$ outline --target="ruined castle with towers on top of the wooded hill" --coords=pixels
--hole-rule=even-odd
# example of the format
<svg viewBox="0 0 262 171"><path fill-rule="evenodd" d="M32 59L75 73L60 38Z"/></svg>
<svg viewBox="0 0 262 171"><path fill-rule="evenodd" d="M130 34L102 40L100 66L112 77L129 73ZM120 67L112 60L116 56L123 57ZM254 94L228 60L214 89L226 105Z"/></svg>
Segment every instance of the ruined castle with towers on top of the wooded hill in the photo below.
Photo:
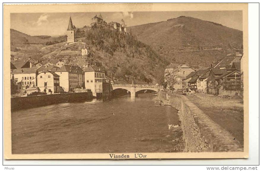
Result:
<svg viewBox="0 0 262 171"><path fill-rule="evenodd" d="M119 32L122 32L124 34L127 33L127 25L125 25L124 20L121 20L121 23L118 22L110 22L107 23L105 20L103 20L103 17L101 14L99 16L95 15L95 17L92 18L91 27L108 27L114 30L118 30Z"/></svg>

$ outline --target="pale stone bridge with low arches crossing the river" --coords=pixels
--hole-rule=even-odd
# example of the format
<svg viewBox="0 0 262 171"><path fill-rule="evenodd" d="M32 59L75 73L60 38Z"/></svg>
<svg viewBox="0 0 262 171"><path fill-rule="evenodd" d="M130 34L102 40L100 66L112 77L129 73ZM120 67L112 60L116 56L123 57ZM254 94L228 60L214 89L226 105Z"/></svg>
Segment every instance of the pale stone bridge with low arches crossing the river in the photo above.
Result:
<svg viewBox="0 0 262 171"><path fill-rule="evenodd" d="M140 90L153 90L158 92L160 87L158 85L143 85L143 84L111 84L111 91L115 89L126 89L130 92L131 97L137 96Z"/></svg>

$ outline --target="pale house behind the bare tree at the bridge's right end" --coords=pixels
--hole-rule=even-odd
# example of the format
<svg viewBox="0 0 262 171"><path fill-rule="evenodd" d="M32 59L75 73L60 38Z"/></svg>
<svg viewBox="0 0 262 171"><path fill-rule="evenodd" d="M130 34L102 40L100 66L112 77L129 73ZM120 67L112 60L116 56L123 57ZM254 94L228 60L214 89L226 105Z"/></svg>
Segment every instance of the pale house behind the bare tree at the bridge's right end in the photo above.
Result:
<svg viewBox="0 0 262 171"><path fill-rule="evenodd" d="M174 89L182 89L183 87L183 79L186 78L186 76L194 72L195 70L186 66L186 65L181 65L181 66L175 66L174 64L170 64L169 66L166 67L165 72L164 72L164 77L172 76L172 75L177 75L176 76L176 83L174 84L173 88ZM174 73L175 72L175 73ZM165 82L167 79L165 79ZM169 87L167 87L169 88Z"/></svg>

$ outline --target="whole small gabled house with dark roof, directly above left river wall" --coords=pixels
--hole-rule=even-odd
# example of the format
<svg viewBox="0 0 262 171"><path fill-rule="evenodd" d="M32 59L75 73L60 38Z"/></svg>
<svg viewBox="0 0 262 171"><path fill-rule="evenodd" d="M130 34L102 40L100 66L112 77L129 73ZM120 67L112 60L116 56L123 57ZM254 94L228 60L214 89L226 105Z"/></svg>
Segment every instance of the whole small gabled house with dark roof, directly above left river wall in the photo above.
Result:
<svg viewBox="0 0 262 171"><path fill-rule="evenodd" d="M41 92L58 93L59 92L59 75L52 71L41 71L37 76L37 87Z"/></svg>

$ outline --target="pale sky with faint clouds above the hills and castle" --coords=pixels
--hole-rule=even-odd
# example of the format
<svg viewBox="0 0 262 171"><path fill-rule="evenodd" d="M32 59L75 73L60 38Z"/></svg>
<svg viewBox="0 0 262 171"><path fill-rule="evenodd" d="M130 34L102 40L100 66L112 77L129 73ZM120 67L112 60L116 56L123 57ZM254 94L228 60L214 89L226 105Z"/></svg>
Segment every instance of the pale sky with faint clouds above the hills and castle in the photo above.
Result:
<svg viewBox="0 0 262 171"><path fill-rule="evenodd" d="M96 14L100 13L12 13L11 28L28 35L65 35L70 16L76 27L83 27L90 26ZM243 30L242 11L101 12L101 15L107 23L120 23L124 19L127 27L187 16Z"/></svg>

